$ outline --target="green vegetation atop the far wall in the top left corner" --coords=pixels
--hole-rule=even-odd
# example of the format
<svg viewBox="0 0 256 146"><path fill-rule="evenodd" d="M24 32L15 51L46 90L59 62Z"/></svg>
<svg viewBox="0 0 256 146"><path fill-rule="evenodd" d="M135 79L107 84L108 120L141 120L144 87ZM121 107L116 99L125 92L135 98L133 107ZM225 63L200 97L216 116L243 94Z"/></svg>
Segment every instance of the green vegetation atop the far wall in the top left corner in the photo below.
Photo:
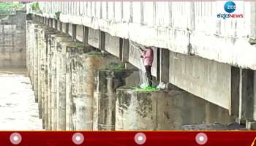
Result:
<svg viewBox="0 0 256 146"><path fill-rule="evenodd" d="M17 2L0 2L0 13L10 13L23 9L23 4Z"/></svg>

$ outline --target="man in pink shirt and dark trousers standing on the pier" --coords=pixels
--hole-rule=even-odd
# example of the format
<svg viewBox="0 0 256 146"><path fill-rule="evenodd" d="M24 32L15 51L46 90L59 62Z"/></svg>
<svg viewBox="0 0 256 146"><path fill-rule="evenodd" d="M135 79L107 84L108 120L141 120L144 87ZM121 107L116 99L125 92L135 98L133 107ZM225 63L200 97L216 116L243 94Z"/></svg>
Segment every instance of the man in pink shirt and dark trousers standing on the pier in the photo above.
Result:
<svg viewBox="0 0 256 146"><path fill-rule="evenodd" d="M149 87L152 87L152 74L151 74L151 67L154 60L154 51L151 47L146 47L146 50L143 50L141 47L139 47L142 51L142 55L140 55L140 58L143 58L143 64L146 69L146 74L148 77L148 85Z"/></svg>

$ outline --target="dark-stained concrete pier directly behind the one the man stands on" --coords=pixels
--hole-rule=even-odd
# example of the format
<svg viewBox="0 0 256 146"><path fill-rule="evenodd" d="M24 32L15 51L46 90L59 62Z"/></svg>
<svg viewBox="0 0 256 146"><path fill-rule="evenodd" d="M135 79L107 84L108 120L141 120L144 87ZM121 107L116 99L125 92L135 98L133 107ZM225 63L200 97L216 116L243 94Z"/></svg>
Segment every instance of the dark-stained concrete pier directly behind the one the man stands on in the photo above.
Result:
<svg viewBox="0 0 256 146"><path fill-rule="evenodd" d="M99 69L94 77L94 130L115 130L116 90L139 83L136 70Z"/></svg>

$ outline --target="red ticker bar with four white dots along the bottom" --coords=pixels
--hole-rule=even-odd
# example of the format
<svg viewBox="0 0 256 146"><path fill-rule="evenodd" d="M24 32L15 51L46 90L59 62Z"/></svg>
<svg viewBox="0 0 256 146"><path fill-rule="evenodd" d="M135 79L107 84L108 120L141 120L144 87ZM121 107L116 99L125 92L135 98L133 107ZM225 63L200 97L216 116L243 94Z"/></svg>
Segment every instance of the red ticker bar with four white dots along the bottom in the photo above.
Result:
<svg viewBox="0 0 256 146"><path fill-rule="evenodd" d="M256 146L256 131L1 131L1 145ZM255 144L254 144L255 141Z"/></svg>

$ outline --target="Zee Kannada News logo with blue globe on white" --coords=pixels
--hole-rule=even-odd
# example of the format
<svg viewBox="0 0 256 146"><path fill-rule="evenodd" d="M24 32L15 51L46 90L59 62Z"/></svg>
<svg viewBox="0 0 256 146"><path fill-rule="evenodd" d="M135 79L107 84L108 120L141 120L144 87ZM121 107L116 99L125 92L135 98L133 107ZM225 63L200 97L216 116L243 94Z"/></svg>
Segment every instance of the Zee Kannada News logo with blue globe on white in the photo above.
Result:
<svg viewBox="0 0 256 146"><path fill-rule="evenodd" d="M217 1L217 18L244 18L244 1Z"/></svg>

